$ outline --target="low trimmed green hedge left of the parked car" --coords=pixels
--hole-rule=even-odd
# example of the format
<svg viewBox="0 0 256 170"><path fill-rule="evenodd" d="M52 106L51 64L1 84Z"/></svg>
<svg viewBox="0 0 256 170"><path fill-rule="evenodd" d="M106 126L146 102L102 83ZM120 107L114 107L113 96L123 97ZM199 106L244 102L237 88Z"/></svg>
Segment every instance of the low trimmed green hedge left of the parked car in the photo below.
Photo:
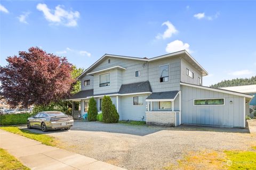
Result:
<svg viewBox="0 0 256 170"><path fill-rule="evenodd" d="M0 125L26 124L30 113L0 115Z"/></svg>

